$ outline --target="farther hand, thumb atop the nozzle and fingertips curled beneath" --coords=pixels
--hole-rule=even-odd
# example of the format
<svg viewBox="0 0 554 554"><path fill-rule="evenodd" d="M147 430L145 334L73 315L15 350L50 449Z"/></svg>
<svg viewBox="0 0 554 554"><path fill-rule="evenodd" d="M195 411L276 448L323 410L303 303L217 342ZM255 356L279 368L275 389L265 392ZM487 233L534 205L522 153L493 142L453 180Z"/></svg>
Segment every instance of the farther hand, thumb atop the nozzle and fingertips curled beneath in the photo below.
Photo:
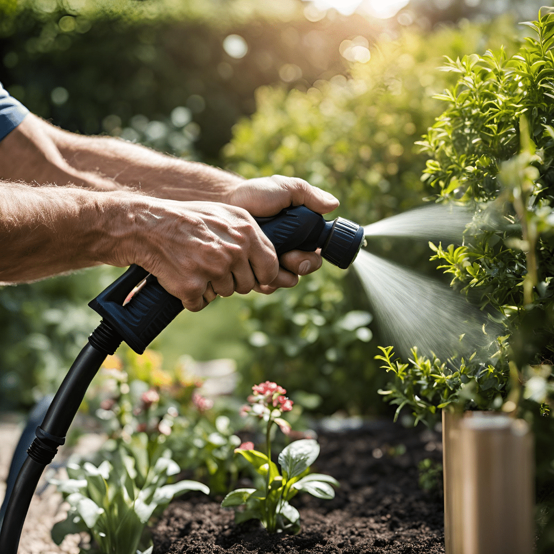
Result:
<svg viewBox="0 0 554 554"><path fill-rule="evenodd" d="M304 179L273 175L248 179L234 185L227 198L228 204L240 206L255 217L269 217L278 214L290 205L304 205L318 214L327 214L338 207L338 200ZM319 252L293 250L281 256L281 267L274 282L257 286L255 290L270 294L280 287L293 287L298 275L307 275L321 267Z"/></svg>

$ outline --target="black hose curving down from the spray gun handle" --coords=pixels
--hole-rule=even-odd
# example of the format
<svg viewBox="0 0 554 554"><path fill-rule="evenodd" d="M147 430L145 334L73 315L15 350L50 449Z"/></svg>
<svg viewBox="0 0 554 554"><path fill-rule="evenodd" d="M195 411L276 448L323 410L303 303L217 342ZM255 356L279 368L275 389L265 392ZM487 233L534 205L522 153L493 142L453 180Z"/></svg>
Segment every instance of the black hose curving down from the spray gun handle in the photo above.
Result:
<svg viewBox="0 0 554 554"><path fill-rule="evenodd" d="M9 497L6 515L0 530L0 552L17 554L23 522L40 476L53 460L58 446L65 442L71 421L75 417L90 382L108 354L114 354L121 337L109 324L102 321L89 337L89 342L65 375L36 437L27 450L24 461Z"/></svg>

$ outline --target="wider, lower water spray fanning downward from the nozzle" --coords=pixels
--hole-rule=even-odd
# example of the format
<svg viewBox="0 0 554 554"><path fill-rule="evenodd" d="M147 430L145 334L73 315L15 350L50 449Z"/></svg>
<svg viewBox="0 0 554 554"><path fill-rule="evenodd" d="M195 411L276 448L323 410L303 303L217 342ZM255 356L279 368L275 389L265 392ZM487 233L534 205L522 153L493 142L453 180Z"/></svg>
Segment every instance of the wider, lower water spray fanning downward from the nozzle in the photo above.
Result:
<svg viewBox="0 0 554 554"><path fill-rule="evenodd" d="M478 350L494 352L501 326L450 287L365 250L353 266L379 330L402 357L414 346L442 360Z"/></svg>

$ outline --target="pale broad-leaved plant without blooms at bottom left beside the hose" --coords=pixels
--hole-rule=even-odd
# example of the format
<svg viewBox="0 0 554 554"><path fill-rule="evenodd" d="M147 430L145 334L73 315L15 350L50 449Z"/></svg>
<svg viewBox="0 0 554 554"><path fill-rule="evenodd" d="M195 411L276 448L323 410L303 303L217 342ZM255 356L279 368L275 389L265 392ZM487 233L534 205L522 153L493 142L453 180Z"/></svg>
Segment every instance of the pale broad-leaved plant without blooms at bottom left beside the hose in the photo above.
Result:
<svg viewBox="0 0 554 554"><path fill-rule="evenodd" d="M181 470L168 449L148 452L145 433L106 453L98 467L90 462L67 466L69 479L53 480L70 508L64 521L52 528L60 544L68 533L88 532L100 554L136 554L147 541L144 528L173 496L196 490L209 494L197 481L171 482ZM151 550L150 550L151 551ZM150 552L146 551L146 552Z"/></svg>

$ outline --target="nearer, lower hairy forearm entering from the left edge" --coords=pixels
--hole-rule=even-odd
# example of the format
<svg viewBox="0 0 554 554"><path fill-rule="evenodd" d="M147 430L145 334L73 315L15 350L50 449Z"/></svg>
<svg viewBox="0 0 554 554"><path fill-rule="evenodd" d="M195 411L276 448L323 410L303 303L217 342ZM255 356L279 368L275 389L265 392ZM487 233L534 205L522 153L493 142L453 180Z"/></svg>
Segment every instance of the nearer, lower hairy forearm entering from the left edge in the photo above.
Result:
<svg viewBox="0 0 554 554"><path fill-rule="evenodd" d="M0 282L119 265L119 245L132 225L118 222L135 196L0 181Z"/></svg>

